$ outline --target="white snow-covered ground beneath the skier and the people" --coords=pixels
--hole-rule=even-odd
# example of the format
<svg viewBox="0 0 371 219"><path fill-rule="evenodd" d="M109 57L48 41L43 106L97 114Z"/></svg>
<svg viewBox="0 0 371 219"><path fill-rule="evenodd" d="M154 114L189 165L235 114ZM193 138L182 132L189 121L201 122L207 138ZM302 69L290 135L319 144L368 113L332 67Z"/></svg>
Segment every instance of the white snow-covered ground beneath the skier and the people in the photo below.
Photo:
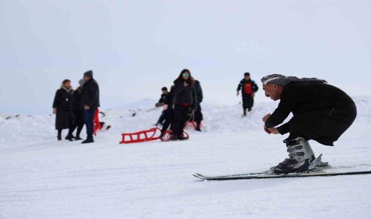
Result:
<svg viewBox="0 0 371 219"><path fill-rule="evenodd" d="M333 166L370 170L371 97L354 100L357 119L335 146L311 145ZM241 106L204 104L204 131L188 129L188 141L129 145L118 144L121 133L152 128L161 109L130 105L134 117L125 107L102 110L112 128L87 145L58 142L54 116L2 114L0 219L371 218L371 175L220 182L192 176L264 171L287 158L285 136L262 129L261 118L276 105L256 104L242 119Z"/></svg>

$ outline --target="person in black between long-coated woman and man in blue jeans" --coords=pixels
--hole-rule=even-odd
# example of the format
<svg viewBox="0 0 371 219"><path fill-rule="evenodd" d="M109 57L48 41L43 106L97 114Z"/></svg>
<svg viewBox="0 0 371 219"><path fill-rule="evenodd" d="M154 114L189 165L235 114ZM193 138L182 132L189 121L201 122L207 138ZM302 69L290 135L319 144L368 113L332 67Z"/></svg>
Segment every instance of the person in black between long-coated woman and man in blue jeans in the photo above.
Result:
<svg viewBox="0 0 371 219"><path fill-rule="evenodd" d="M82 138L80 137L80 133L84 126L84 120L83 120L84 110L82 109L82 106L81 106L81 92L82 92L84 83L85 81L81 79L79 81L80 87L78 87L75 91L72 92L72 97L73 97L72 112L75 116L75 123L68 132L68 135L69 135L68 140L70 141L72 141L72 138L75 138L75 140L82 140ZM76 137L74 137L72 133L75 131L76 128L77 128Z"/></svg>

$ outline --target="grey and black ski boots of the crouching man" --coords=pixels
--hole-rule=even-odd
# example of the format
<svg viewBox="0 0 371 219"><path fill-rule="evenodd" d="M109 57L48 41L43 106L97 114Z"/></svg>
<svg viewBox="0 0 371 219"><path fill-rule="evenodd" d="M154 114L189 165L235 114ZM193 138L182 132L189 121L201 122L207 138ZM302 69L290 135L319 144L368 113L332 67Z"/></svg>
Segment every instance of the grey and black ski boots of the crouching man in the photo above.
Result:
<svg viewBox="0 0 371 219"><path fill-rule="evenodd" d="M286 146L289 152L289 158L285 159L282 163L279 163L273 172L276 174L286 174L294 172L306 172L309 171L310 163L315 159L312 148L308 141L304 138L298 137L294 140L287 141Z"/></svg>

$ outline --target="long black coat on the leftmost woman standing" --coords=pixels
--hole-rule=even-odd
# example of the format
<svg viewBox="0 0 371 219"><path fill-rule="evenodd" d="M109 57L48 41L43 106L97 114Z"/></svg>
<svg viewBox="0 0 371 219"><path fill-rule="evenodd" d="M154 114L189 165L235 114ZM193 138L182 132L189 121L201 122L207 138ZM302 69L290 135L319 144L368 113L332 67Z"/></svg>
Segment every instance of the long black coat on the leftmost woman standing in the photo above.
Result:
<svg viewBox="0 0 371 219"><path fill-rule="evenodd" d="M66 89L59 89L57 90L53 108L57 109L57 116L56 116L56 129L65 129L70 128L71 125L74 123L74 115L72 113L72 93L73 90L67 91Z"/></svg>

